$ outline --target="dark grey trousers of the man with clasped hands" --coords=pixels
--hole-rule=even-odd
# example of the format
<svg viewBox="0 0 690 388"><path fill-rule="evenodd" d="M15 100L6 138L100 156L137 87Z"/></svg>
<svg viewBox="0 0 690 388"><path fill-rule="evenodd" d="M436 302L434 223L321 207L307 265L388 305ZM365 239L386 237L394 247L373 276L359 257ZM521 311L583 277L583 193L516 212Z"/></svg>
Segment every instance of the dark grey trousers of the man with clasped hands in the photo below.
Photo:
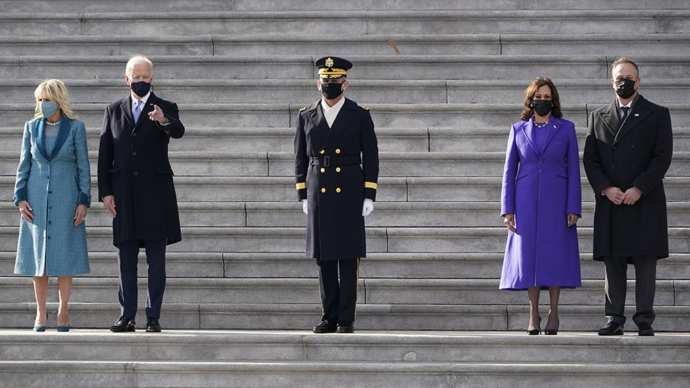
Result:
<svg viewBox="0 0 690 388"><path fill-rule="evenodd" d="M635 305L633 322L654 322L654 293L656 292L656 256L605 257L606 315L618 324L625 323L624 307L627 291L627 260L635 266Z"/></svg>

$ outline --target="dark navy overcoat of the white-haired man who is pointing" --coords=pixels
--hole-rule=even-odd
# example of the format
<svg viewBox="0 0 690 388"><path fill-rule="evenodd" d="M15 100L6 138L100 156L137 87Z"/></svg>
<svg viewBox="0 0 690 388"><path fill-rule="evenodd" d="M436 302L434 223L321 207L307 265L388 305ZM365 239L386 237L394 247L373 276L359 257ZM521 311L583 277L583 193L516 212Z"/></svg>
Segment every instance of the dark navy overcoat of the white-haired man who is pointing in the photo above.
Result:
<svg viewBox="0 0 690 388"><path fill-rule="evenodd" d="M115 195L117 217L112 220L112 243L165 238L168 244L181 240L177 196L168 159L170 137L184 135L177 104L148 97L136 125L132 97L108 105L98 151L98 197ZM149 117L157 105L169 125ZM143 242L142 242L143 244Z"/></svg>

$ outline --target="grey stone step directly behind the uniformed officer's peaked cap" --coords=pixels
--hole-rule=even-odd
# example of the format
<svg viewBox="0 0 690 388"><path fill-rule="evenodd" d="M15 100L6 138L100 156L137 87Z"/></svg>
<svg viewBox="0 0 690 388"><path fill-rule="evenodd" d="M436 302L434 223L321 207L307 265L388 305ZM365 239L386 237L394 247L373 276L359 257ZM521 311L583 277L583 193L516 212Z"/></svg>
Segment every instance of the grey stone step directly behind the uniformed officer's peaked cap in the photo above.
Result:
<svg viewBox="0 0 690 388"><path fill-rule="evenodd" d="M690 25L690 23L689 23ZM315 79L317 55L152 55L158 79ZM610 79L615 55L348 55L351 79L533 79L546 74L567 79ZM128 55L0 56L0 76L37 79L113 79L124 72ZM637 56L644 75L684 78L687 55ZM260 66L259 66L260 65ZM75 70L88 68L88 71Z"/></svg>

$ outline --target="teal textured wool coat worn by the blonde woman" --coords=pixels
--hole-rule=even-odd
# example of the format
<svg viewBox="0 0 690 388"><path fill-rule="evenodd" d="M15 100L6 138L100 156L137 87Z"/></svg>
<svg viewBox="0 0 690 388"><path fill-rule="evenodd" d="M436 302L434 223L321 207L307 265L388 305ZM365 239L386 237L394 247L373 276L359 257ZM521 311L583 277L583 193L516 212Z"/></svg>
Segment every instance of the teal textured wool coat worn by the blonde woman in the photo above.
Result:
<svg viewBox="0 0 690 388"><path fill-rule="evenodd" d="M14 184L14 204L26 200L33 222L20 217L14 273L70 276L88 273L86 222L75 226L77 205L91 204L83 122L62 117L57 142L46 153L45 119L26 122Z"/></svg>

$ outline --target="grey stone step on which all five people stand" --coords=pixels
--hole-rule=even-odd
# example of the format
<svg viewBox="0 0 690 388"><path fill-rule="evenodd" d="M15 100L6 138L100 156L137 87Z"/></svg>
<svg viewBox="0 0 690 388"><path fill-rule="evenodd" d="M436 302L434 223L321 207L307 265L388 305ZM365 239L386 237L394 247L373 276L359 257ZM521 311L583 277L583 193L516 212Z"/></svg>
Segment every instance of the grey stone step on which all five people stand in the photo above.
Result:
<svg viewBox="0 0 690 388"><path fill-rule="evenodd" d="M561 333L560 333L561 334ZM2 330L3 360L361 360L387 362L620 362L651 365L687 357L690 337L664 333L642 342L631 336L564 333L528 337L486 331L367 331L322 336L306 331L164 331L112 335L83 329L70 333ZM510 355L505 348L510 347ZM535 353L535 348L539 350ZM135 350L136 349L136 350ZM615 349L615 350L614 350Z"/></svg>

